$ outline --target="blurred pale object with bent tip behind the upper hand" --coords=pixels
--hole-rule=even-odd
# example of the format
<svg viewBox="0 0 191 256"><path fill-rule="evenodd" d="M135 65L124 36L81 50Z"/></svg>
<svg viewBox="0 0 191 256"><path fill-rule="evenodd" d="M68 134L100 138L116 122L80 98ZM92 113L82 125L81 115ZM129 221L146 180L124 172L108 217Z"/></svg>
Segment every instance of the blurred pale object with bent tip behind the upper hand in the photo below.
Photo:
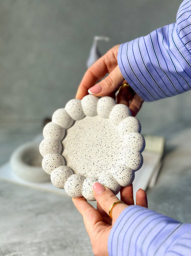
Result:
<svg viewBox="0 0 191 256"><path fill-rule="evenodd" d="M97 59L101 57L101 54L99 53L99 50L97 49L97 42L98 41L109 41L109 37L106 36L94 36L94 41L90 49L90 55L87 60L87 68L91 67L94 62L96 62Z"/></svg>

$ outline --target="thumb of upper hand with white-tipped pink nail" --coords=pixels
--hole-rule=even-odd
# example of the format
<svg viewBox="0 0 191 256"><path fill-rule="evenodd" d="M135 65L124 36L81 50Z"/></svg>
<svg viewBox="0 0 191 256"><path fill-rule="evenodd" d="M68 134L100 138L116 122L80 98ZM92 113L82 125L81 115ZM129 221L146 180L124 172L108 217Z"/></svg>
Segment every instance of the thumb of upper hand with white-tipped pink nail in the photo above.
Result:
<svg viewBox="0 0 191 256"><path fill-rule="evenodd" d="M117 90L123 81L124 77L121 74L119 66L116 66L107 77L100 81L99 84L91 87L88 92L98 97L106 96Z"/></svg>

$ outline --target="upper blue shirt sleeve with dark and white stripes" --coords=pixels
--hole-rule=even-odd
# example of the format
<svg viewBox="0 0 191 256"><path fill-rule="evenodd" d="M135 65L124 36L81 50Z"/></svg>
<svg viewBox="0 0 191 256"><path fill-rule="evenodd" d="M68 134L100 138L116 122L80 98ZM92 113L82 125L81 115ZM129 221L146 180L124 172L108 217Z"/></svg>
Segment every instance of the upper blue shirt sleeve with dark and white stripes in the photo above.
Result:
<svg viewBox="0 0 191 256"><path fill-rule="evenodd" d="M191 0L184 0L176 23L120 45L118 65L145 101L191 89Z"/></svg>

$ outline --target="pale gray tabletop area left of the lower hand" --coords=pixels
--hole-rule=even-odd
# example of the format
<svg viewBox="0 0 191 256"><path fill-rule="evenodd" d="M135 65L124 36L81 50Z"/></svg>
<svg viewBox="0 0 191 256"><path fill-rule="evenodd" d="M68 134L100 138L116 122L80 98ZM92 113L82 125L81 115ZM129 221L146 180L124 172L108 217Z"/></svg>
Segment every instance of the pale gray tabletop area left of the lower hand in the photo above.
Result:
<svg viewBox="0 0 191 256"><path fill-rule="evenodd" d="M0 255L93 255L71 198L0 181Z"/></svg>

